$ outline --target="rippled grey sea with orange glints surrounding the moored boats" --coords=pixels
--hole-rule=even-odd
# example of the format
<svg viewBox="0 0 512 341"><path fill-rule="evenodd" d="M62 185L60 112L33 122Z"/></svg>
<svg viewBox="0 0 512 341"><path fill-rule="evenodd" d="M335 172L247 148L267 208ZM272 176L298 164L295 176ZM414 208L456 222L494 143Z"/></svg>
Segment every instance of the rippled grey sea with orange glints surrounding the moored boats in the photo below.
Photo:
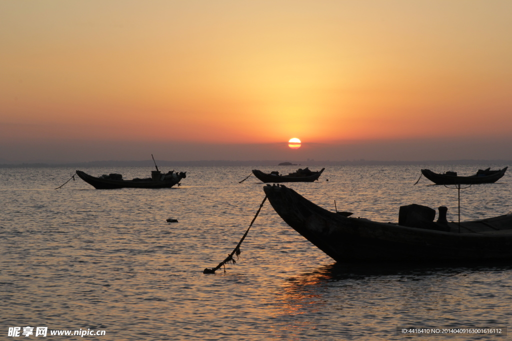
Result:
<svg viewBox="0 0 512 341"><path fill-rule="evenodd" d="M457 190L424 177L413 186L420 169L469 175L487 167L328 167L317 183L289 186L355 216L397 221L399 206L419 203L447 206L456 221ZM82 170L124 178L151 171ZM248 167L176 170L188 176L173 189L95 190L77 177L54 190L75 170L0 169L0 339L13 339L9 327L46 326L106 331L48 339L401 340L414 337L397 336L397 326L503 328L512 319L512 264L335 263L268 202L237 264L203 275L238 243L264 185L253 176L238 183ZM462 220L511 211L511 184L506 174L461 190Z"/></svg>

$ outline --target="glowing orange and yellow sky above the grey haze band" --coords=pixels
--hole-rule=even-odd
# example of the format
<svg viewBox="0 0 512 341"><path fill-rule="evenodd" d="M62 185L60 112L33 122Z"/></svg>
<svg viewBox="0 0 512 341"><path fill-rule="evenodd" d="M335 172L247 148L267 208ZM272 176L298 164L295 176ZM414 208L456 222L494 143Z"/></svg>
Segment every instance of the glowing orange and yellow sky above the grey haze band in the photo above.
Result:
<svg viewBox="0 0 512 341"><path fill-rule="evenodd" d="M0 142L506 137L510 13L471 0L2 2Z"/></svg>

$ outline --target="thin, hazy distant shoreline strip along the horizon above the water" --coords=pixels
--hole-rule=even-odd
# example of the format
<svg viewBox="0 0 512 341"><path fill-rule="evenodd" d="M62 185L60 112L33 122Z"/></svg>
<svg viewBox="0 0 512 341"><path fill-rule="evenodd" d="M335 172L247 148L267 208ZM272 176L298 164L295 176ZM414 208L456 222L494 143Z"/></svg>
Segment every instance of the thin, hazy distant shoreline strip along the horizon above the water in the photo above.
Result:
<svg viewBox="0 0 512 341"><path fill-rule="evenodd" d="M438 160L438 161L285 161L285 160L260 160L260 161L227 161L227 160L202 160L202 161L163 161L157 160L160 167L222 167L222 166L279 166L280 163L290 162L302 166L406 166L406 165L510 165L510 160ZM0 164L0 168L89 168L89 167L155 167L153 160L144 161L91 161L74 163L21 163ZM288 166L289 167L289 166Z"/></svg>

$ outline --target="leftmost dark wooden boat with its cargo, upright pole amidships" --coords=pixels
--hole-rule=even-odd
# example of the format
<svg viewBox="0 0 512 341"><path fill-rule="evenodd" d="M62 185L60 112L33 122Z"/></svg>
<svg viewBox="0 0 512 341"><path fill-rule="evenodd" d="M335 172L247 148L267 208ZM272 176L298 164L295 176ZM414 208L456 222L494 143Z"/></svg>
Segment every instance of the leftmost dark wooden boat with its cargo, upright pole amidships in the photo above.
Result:
<svg viewBox="0 0 512 341"><path fill-rule="evenodd" d="M174 173L168 172L161 174L159 171L153 171L151 178L132 180L123 180L120 174L102 175L99 177L89 175L77 170L76 174L89 185L98 190L108 190L117 188L170 188L179 184L181 179L186 177L186 172Z"/></svg>

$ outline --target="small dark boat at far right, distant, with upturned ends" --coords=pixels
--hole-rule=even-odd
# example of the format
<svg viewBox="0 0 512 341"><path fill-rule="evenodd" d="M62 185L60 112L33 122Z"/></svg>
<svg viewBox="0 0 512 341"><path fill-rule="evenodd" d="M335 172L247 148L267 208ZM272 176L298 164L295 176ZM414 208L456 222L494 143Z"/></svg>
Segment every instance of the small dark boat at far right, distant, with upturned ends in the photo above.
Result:
<svg viewBox="0 0 512 341"><path fill-rule="evenodd" d="M456 172L446 172L443 174L434 173L430 169L422 169L421 173L436 185L474 185L474 184L490 184L498 181L508 167L492 171L490 168L479 170L475 175L458 176Z"/></svg>

